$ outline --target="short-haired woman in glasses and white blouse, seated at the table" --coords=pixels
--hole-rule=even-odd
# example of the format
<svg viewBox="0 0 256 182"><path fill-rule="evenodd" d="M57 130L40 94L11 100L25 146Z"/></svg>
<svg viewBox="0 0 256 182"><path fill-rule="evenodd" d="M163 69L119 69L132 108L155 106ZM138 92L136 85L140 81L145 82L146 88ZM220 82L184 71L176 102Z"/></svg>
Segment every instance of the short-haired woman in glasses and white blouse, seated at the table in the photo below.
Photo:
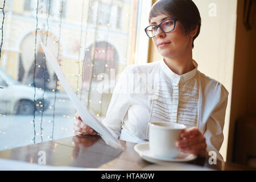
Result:
<svg viewBox="0 0 256 182"><path fill-rule="evenodd" d="M146 34L163 59L130 65L122 72L104 125L119 139L141 143L148 140L148 123L152 121L183 123L187 129L176 142L180 151L199 156L215 151L223 160L218 151L224 138L228 91L199 72L192 59L193 42L201 27L199 10L191 0L160 0L151 8L149 23ZM143 74L151 81L143 80ZM97 134L80 118L74 131Z"/></svg>

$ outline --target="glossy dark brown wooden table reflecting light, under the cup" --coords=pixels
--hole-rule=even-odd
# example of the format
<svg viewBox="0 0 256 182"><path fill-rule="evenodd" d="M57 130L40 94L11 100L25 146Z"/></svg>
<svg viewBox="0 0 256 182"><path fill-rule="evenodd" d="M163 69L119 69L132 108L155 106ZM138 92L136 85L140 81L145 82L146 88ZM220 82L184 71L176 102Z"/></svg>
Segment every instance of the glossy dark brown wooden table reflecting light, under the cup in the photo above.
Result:
<svg viewBox="0 0 256 182"><path fill-rule="evenodd" d="M121 143L125 146L125 151L108 146L98 135L78 135L0 151L0 158L38 163L40 155L42 155L43 152L46 156L46 164L50 166L137 171L158 169L158 164L147 162L134 151L135 143L122 140ZM194 164L196 167L200 167L203 170L255 170L255 168L229 162L221 162L220 160L217 160L217 164L210 165L208 159L209 158L197 158L192 162L188 162L188 164ZM174 167L177 163L168 164Z"/></svg>

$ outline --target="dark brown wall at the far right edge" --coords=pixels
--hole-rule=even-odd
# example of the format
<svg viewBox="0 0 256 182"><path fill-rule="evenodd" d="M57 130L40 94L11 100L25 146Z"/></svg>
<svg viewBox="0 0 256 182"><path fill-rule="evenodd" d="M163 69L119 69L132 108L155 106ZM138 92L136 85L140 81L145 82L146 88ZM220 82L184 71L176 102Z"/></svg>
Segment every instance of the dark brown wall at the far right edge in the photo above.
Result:
<svg viewBox="0 0 256 182"><path fill-rule="evenodd" d="M227 161L232 161L236 119L243 115L256 115L256 28L247 31L243 26L244 1L237 5L237 34L234 56L232 104L230 109ZM245 141L246 142L246 141Z"/></svg>

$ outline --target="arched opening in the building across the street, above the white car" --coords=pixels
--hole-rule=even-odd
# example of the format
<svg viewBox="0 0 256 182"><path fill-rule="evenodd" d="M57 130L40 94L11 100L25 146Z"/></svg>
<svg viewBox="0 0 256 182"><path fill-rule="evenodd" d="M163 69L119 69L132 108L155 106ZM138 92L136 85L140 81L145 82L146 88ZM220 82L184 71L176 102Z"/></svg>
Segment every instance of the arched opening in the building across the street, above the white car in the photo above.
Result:
<svg viewBox="0 0 256 182"><path fill-rule="evenodd" d="M38 31L38 37L40 36L42 40L46 40L46 34L46 31ZM55 41L55 36L48 32L47 45L53 50L55 55L57 55L58 44ZM20 46L21 51L19 55L18 80L25 85L33 84L35 80L36 88L44 89L45 85L46 90L55 89L57 77L49 63L46 62L44 53L39 46L39 41L36 45L36 59L34 53L31 53L34 52L34 42L35 32L27 35L22 40L22 44ZM44 71L46 72L44 73Z"/></svg>

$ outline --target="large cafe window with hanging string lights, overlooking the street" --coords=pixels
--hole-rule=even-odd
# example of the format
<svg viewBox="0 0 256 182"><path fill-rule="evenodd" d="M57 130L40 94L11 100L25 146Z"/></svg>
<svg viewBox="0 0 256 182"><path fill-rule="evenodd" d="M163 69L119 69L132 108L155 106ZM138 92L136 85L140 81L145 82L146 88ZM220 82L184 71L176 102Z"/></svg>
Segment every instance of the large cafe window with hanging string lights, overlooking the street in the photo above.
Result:
<svg viewBox="0 0 256 182"><path fill-rule="evenodd" d="M112 96L98 92L101 76L111 78L113 72L116 76L128 64L138 63L132 55L137 55L136 42L142 37L137 34L142 1L39 2L38 21L37 0L14 0L5 8L0 150L73 135L75 109L45 58L39 37L59 60L77 97L100 120ZM151 1L143 3L151 6ZM109 84L105 89L114 86Z"/></svg>

